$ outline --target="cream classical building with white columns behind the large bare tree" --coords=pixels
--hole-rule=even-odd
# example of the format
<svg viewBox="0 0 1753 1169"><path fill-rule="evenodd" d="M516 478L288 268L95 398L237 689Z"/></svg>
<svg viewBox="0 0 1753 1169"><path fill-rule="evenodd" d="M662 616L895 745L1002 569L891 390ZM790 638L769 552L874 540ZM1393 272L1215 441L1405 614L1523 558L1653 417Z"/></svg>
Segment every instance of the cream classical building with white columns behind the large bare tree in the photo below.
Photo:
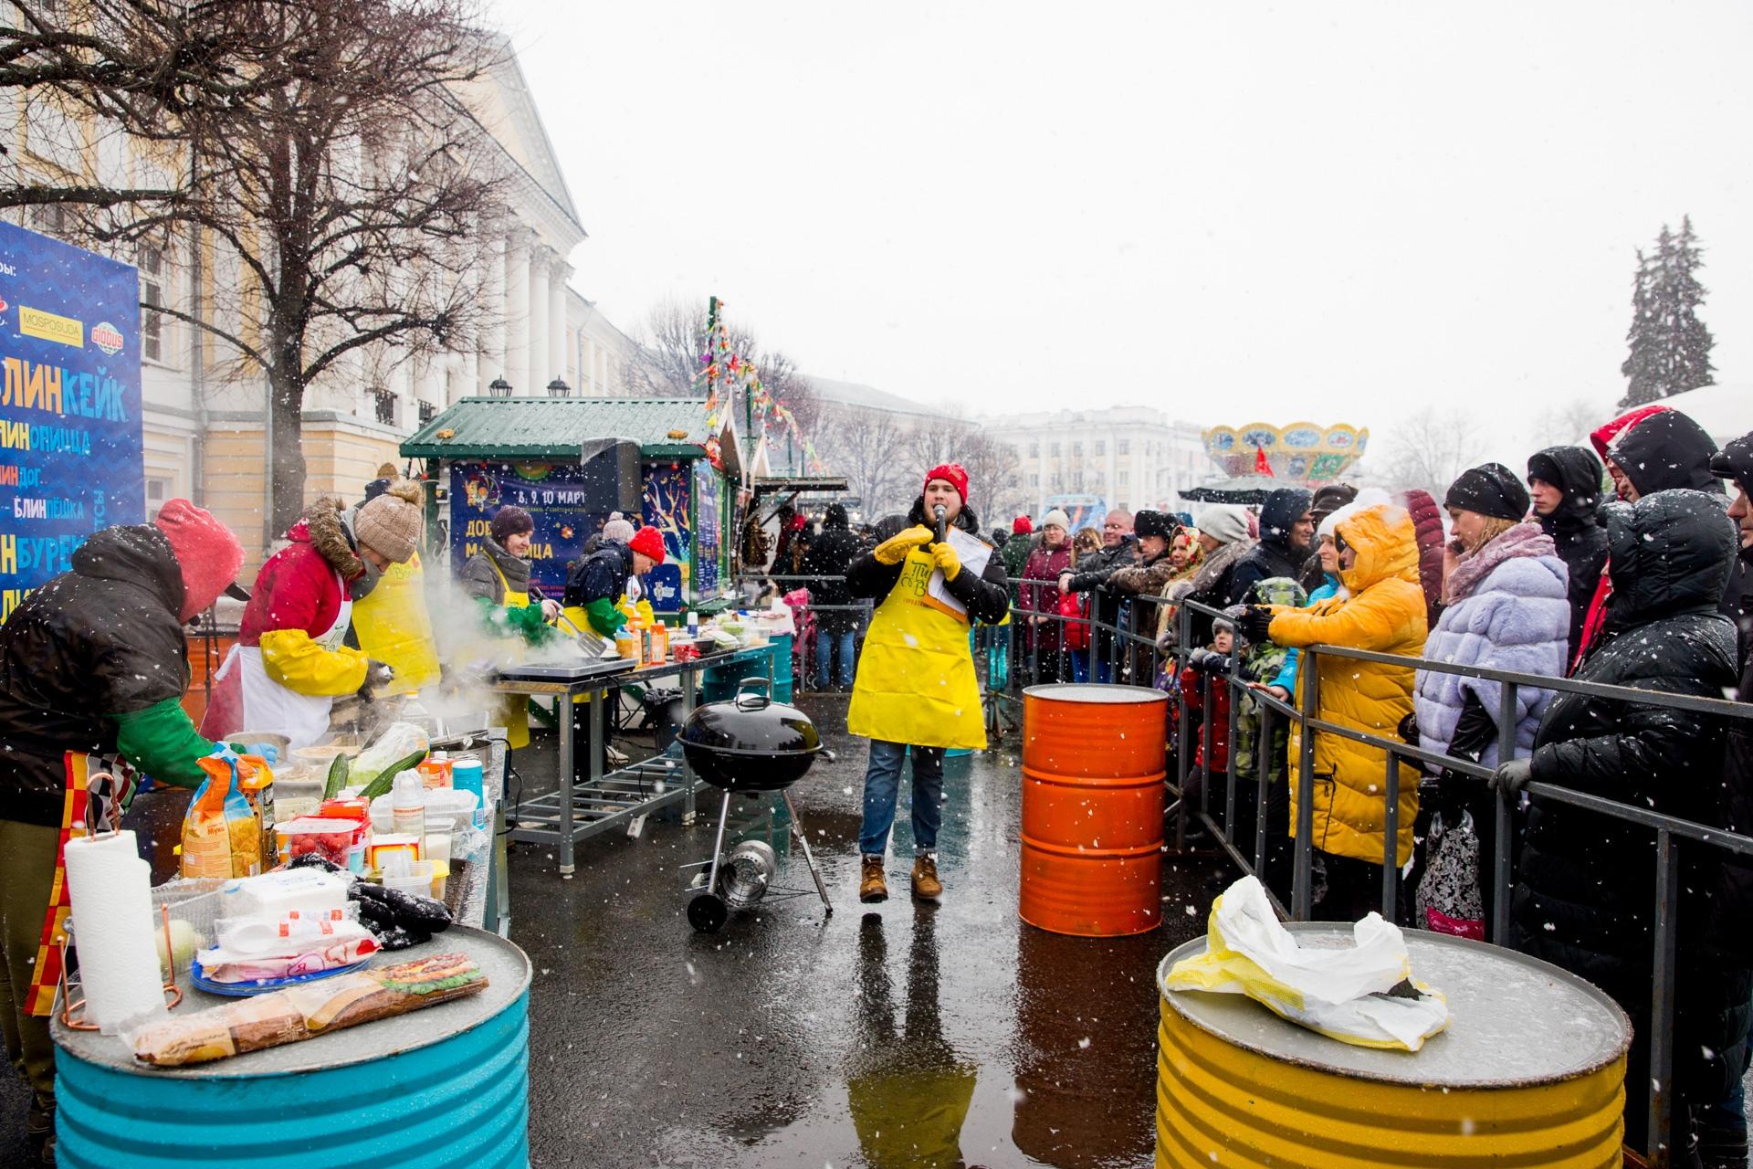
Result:
<svg viewBox="0 0 1753 1169"><path fill-rule="evenodd" d="M487 240L484 317L493 324L477 345L428 358L400 361L393 351L361 347L307 387L302 422L307 496L358 498L382 463L400 461L396 449L407 435L470 394L561 393L557 384L573 396L628 393L636 345L571 287L573 256L586 231L515 54L508 42L500 49L498 67L459 93L505 151L514 174L510 214L491 228ZM9 100L21 98L14 91ZM95 159L67 156L65 142L79 135L65 124L33 121L44 117L40 109L7 110L21 165L58 170L88 163L98 170L142 165L138 151L128 158L117 142L105 142ZM35 209L18 221L47 235L63 226L54 207ZM212 312L212 286L237 282L237 261L216 251L210 238L188 237L172 249L142 247L117 258L138 266L142 301L196 315ZM263 380L237 377L226 352L203 329L149 308L142 308L140 380L147 508L175 496L209 507L244 540L247 578L265 543L279 535L266 531L265 521L270 438Z"/></svg>

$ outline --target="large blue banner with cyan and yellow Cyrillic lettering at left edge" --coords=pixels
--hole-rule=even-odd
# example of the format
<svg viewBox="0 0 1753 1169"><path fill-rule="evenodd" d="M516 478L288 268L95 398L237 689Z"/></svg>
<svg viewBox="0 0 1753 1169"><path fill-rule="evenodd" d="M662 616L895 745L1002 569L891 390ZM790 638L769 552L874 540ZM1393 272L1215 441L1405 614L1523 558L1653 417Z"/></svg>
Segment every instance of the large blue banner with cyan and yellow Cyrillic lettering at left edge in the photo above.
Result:
<svg viewBox="0 0 1753 1169"><path fill-rule="evenodd" d="M86 536L145 519L140 280L0 223L0 619Z"/></svg>

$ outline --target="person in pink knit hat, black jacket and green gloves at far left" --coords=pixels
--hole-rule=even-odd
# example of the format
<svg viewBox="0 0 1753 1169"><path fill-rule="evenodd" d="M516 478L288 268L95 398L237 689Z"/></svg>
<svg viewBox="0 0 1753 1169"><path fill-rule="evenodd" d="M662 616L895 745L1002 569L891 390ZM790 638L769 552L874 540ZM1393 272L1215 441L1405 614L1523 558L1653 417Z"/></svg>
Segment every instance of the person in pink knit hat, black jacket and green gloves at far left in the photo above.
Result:
<svg viewBox="0 0 1753 1169"><path fill-rule="evenodd" d="M67 915L61 848L96 808L86 782L109 771L131 799L140 773L198 787L214 745L182 710L182 626L221 592L242 596L244 547L188 499L151 524L105 528L72 570L25 598L0 626L0 1029L35 1099L26 1122L54 1132L49 1013ZM119 810L117 810L119 811Z"/></svg>

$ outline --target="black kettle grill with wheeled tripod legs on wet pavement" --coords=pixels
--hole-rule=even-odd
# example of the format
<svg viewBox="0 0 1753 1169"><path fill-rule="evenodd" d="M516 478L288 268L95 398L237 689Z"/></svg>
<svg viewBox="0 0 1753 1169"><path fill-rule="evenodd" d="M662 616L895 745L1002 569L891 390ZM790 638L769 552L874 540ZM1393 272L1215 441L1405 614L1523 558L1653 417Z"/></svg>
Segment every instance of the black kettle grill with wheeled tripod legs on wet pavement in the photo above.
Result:
<svg viewBox="0 0 1753 1169"><path fill-rule="evenodd" d="M810 840L787 790L805 776L817 755L834 757L822 747L822 736L810 717L796 706L775 703L768 678L743 678L729 701L698 706L677 738L694 775L724 792L712 859L699 862L708 869L705 883L696 878L692 889L699 892L687 903L689 924L705 934L715 932L733 908L745 910L761 901L771 882L777 861L766 845L745 841L729 855L724 854L724 829L731 818L731 796L736 794L780 794L791 813L791 831L803 847L803 861L815 878L815 892L822 897L822 908L833 913L827 885L815 868L815 854L810 852Z"/></svg>

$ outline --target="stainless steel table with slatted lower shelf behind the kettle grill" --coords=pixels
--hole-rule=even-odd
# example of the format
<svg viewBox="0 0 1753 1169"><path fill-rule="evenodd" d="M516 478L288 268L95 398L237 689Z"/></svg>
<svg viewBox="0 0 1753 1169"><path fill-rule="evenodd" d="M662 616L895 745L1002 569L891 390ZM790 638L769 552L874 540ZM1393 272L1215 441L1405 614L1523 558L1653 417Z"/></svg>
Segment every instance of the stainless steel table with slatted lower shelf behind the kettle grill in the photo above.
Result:
<svg viewBox="0 0 1753 1169"><path fill-rule="evenodd" d="M571 726L571 703L584 698L589 705L591 734L607 734L603 727L603 698L608 684L638 682L642 678L680 677L682 720L694 713L694 687L699 671L763 659L763 673L771 680L771 647L752 647L703 654L692 661L673 661L661 666L635 668L626 659L593 661L578 666L517 666L501 671L491 689L501 694L529 694L557 699L559 722L559 776L556 790L526 799L517 808L517 827L510 836L531 845L554 845L559 850L559 873L575 871L573 850L580 840L622 827L631 820L682 804L684 822L694 818L694 792L701 780L687 766L678 745L670 750L603 773L603 752L587 743L589 771L577 778L577 741Z"/></svg>

